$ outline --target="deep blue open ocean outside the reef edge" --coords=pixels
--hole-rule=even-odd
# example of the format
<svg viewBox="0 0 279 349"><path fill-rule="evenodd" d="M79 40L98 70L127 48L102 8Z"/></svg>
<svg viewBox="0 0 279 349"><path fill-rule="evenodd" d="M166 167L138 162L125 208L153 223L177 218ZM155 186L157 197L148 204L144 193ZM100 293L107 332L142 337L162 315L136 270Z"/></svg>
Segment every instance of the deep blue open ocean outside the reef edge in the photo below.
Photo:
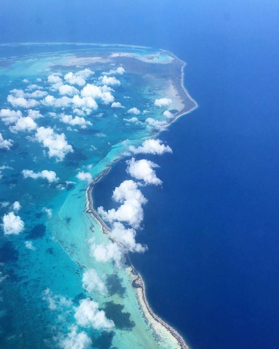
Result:
<svg viewBox="0 0 279 349"><path fill-rule="evenodd" d="M2 1L0 41L150 45L188 64L199 108L160 134L172 155L148 157L163 187L142 188L149 251L131 255L150 305L193 349L278 348L278 2L51 3ZM97 206L125 168L96 186Z"/></svg>

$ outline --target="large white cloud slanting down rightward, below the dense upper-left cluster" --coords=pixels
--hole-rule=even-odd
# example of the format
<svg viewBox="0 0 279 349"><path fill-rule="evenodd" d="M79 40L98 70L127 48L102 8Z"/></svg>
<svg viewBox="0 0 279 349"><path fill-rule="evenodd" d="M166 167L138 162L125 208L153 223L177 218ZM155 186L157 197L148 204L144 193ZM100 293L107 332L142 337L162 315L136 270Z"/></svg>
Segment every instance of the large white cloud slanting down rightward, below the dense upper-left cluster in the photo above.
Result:
<svg viewBox="0 0 279 349"><path fill-rule="evenodd" d="M68 153L73 153L73 148L68 144L64 133L58 134L51 127L39 127L35 134L38 142L48 148L49 157L55 157L56 161L62 161Z"/></svg>

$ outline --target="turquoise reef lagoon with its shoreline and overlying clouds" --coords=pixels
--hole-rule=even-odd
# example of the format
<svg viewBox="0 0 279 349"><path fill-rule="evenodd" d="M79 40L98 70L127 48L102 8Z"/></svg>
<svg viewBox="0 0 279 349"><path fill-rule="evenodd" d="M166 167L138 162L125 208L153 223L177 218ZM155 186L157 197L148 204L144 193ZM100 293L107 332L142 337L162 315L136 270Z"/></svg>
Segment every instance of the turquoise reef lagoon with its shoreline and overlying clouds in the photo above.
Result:
<svg viewBox="0 0 279 349"><path fill-rule="evenodd" d="M184 66L139 46L0 45L2 348L189 348L129 261L148 248L141 185L162 185L142 157L172 153L159 133L197 107ZM124 157L130 179L97 207Z"/></svg>

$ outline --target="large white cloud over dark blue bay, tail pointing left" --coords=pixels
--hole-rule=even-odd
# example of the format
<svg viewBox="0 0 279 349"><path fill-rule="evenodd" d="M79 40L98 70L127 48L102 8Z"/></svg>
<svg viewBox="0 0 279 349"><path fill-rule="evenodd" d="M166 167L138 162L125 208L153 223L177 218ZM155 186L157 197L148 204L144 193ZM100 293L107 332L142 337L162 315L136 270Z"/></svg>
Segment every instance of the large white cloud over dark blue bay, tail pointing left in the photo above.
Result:
<svg viewBox="0 0 279 349"><path fill-rule="evenodd" d="M108 222L121 221L127 222L131 227L138 228L143 220L143 208L147 199L138 189L133 180L123 181L119 187L113 191L112 198L114 201L121 203L121 206L115 210L105 211L102 206L98 207L99 215Z"/></svg>

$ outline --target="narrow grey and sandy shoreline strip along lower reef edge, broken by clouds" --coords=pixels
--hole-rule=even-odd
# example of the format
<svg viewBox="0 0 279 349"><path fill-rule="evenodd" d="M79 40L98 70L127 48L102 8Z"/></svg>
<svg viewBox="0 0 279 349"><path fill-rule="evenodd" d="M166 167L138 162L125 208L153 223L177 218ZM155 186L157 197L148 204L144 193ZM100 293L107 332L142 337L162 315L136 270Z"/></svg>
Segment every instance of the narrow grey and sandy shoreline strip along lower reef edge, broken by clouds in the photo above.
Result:
<svg viewBox="0 0 279 349"><path fill-rule="evenodd" d="M85 191L85 197L86 197L86 209L84 210L86 213L90 214L93 216L95 221L99 224L101 227L101 230L103 231L104 234L108 234L110 232L110 228L106 225L106 223L102 220L102 218L99 216L97 211L94 209L93 206L93 197L92 197L92 190L93 187L98 183L98 181L106 176L108 172L110 172L111 167L106 168L103 170L94 180L92 183L88 185ZM154 313L152 308L150 307L147 297L146 297L146 288L145 288L145 282L143 280L143 277L141 274L135 269L133 264L130 261L128 253L126 253L125 257L127 258L129 265L131 267L131 273L136 276L136 279L132 281L132 286L136 290L138 302L142 307L143 313L145 313L145 310L143 309L143 305L145 306L146 310L148 313L151 315L151 317L157 321L160 325L164 326L167 331L176 339L176 341L179 343L179 346L181 349L190 349L190 347L186 344L184 341L183 337L179 334L178 331L176 331L175 328L172 326L168 325L167 322L165 322L163 319L161 319L158 315ZM135 286L134 281L138 281L138 284Z"/></svg>

